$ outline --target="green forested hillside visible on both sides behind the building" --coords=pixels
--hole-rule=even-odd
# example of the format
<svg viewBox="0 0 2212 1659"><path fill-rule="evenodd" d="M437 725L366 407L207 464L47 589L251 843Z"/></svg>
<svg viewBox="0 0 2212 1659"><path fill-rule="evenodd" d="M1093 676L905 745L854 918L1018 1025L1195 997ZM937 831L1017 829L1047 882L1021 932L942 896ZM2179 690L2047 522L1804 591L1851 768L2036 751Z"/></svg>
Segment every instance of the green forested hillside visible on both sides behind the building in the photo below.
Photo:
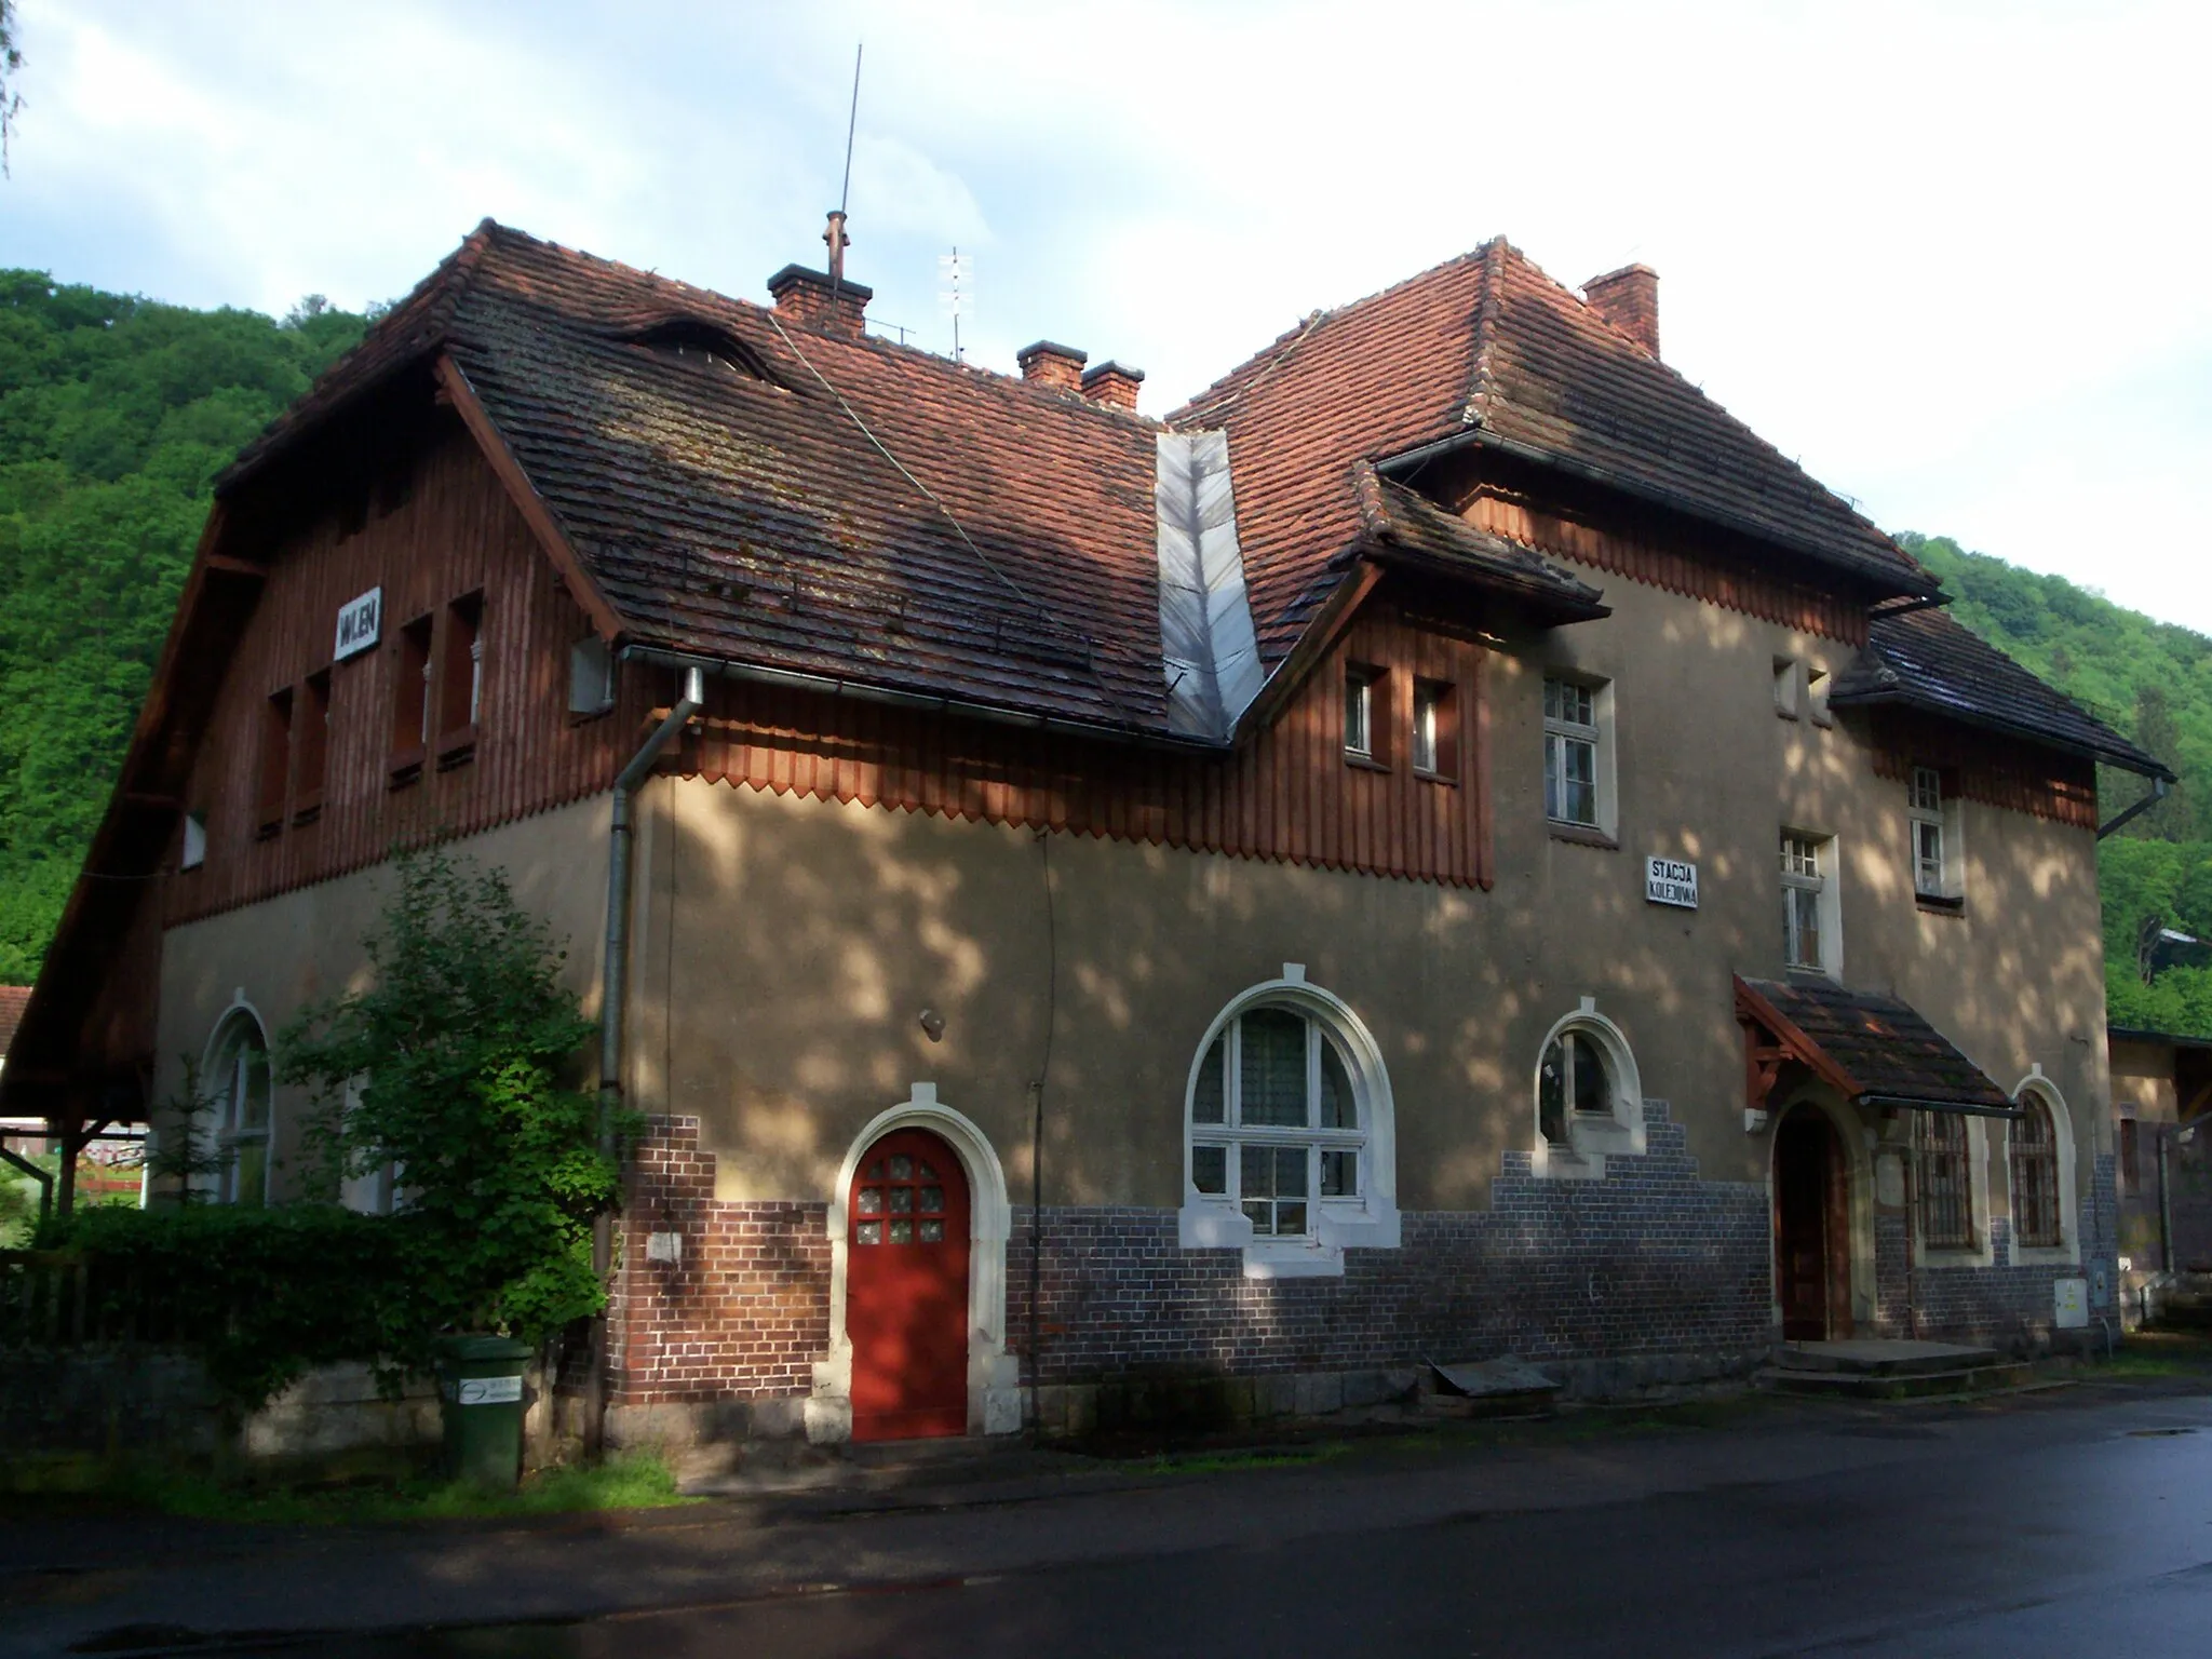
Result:
<svg viewBox="0 0 2212 1659"><path fill-rule="evenodd" d="M365 319L274 321L0 272L0 982L29 982L146 692L208 484ZM2181 772L2104 843L2110 1011L2212 1035L2212 967L2141 973L2146 927L2212 938L2212 639L1944 538L1900 538L1953 615ZM2104 776L2104 810L2141 785Z"/></svg>

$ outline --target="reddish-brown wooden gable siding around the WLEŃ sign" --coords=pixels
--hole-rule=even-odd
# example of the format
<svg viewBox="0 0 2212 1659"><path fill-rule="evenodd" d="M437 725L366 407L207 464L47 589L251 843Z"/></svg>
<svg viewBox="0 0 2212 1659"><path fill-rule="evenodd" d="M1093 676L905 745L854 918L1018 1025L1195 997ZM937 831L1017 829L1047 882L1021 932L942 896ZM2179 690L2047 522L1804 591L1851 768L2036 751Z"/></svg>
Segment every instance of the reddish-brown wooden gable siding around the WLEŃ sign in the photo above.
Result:
<svg viewBox="0 0 2212 1659"><path fill-rule="evenodd" d="M332 664L341 606L378 586L376 648ZM467 761L440 770L434 732L420 776L394 787L389 761L405 630L431 617L429 659L438 664L449 608L467 595L482 595L478 741ZM186 810L206 814L206 865L170 876L166 920L232 909L372 865L394 847L473 834L608 787L635 748L653 677L633 675L615 712L573 721L568 648L586 630L582 611L482 453L458 422L447 422L414 462L405 500L372 500L352 533L343 511L323 511L270 560L186 790ZM294 692L296 759L299 714L310 701L301 688L323 670L330 675L330 726L321 805L310 816L301 812L305 803L288 801L283 827L263 836L257 781L270 697ZM296 774L296 765L292 770ZM299 816L310 821L299 823Z"/></svg>

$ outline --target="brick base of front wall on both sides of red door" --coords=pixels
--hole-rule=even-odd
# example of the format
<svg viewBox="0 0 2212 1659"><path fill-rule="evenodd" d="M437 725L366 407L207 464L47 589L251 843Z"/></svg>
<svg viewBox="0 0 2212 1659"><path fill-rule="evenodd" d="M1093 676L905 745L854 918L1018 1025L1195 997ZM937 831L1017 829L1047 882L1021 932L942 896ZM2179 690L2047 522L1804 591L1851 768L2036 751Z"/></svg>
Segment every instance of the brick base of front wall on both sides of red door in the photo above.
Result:
<svg viewBox="0 0 2212 1659"><path fill-rule="evenodd" d="M1489 1210L1405 1214L1402 1245L1345 1252L1343 1279L1245 1279L1237 1250L1181 1250L1172 1210L1048 1208L1035 1323L1031 1214L1015 1210L1009 1349L1024 1385L1093 1400L1099 1385L1301 1378L1340 1402L1429 1358L1498 1354L1577 1394L1747 1371L1772 1340L1765 1188L1701 1181L1663 1102L1646 1102L1646 1141L1601 1181L1540 1179L1506 1155ZM699 1407L723 1402L728 1429L792 1431L830 1349L825 1225L823 1203L717 1201L699 1121L655 1119L615 1285L622 1420L697 1436ZM653 1234L677 1241L675 1261L650 1259Z"/></svg>

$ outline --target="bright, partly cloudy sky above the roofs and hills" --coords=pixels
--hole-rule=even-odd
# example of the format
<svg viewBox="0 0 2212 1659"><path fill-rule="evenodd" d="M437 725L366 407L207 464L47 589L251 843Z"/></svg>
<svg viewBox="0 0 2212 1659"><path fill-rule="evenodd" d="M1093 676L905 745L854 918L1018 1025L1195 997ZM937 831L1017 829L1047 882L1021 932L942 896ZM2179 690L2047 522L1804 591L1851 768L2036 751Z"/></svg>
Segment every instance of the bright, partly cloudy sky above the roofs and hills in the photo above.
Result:
<svg viewBox="0 0 2212 1659"><path fill-rule="evenodd" d="M1891 531L2212 633L2212 7L18 0L0 263L281 314L482 217L743 299L823 263L1166 414L1506 234L1641 261L1708 396Z"/></svg>

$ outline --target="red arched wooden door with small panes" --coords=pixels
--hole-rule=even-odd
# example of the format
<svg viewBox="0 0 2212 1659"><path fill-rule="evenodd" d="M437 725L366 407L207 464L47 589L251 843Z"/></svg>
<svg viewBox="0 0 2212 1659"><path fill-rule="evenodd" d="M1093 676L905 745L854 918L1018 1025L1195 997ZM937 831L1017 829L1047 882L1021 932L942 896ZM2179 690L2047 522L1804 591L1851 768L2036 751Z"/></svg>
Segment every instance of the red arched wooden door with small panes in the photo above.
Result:
<svg viewBox="0 0 2212 1659"><path fill-rule="evenodd" d="M967 1433L969 1190L953 1148L894 1128L845 1194L852 1438Z"/></svg>

